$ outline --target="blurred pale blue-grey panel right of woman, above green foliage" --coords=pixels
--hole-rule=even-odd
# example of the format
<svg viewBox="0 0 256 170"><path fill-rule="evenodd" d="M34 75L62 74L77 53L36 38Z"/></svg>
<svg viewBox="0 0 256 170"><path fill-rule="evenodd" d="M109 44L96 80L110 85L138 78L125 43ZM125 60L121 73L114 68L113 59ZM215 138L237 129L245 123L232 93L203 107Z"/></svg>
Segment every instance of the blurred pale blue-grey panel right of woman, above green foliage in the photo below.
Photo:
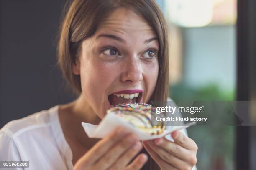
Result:
<svg viewBox="0 0 256 170"><path fill-rule="evenodd" d="M233 25L183 28L184 80L189 86L236 84L236 28Z"/></svg>

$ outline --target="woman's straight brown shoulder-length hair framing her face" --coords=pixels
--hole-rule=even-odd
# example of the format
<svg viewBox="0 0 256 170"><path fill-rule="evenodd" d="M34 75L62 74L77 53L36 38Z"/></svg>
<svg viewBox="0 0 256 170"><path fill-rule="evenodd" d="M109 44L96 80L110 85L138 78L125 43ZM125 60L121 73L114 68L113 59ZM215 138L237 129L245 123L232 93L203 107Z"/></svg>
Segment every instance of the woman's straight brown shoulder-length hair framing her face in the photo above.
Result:
<svg viewBox="0 0 256 170"><path fill-rule="evenodd" d="M74 0L67 1L59 34L58 65L74 92L82 92L80 75L72 73L72 63L79 56L83 40L91 37L100 21L114 10L124 7L141 15L153 28L159 41L159 75L150 101L166 101L168 97L169 53L168 33L164 16L154 0ZM156 163L149 159L147 169Z"/></svg>

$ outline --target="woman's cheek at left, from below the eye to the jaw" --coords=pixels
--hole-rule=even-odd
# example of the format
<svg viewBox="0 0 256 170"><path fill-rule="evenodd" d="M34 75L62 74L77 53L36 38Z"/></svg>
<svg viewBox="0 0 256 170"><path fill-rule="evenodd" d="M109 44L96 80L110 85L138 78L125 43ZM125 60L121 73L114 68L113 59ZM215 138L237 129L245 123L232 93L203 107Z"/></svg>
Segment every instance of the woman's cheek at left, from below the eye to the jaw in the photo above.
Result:
<svg viewBox="0 0 256 170"><path fill-rule="evenodd" d="M103 118L108 107L108 89L118 76L118 68L99 61L81 63L82 94L96 112Z"/></svg>

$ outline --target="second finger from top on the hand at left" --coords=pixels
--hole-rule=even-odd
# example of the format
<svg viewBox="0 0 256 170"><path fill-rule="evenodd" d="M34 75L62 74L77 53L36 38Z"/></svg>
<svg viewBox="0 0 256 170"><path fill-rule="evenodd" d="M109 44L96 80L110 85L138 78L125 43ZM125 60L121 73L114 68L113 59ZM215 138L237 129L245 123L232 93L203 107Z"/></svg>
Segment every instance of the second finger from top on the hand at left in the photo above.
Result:
<svg viewBox="0 0 256 170"><path fill-rule="evenodd" d="M107 153L105 153L102 158L97 162L95 169L107 169L113 163L115 163L120 155L122 155L128 148L134 145L138 141L138 138L130 134L126 136L120 143L116 144Z"/></svg>

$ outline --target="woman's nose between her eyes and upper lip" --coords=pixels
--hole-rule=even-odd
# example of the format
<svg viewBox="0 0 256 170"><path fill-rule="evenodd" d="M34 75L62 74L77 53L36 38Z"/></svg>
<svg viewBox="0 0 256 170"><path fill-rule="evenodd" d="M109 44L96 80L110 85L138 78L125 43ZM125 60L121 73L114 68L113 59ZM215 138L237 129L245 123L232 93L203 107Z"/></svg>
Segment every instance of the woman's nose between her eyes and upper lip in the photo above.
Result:
<svg viewBox="0 0 256 170"><path fill-rule="evenodd" d="M138 56L131 57L128 60L125 60L121 81L133 83L139 82L143 79L142 71L142 65Z"/></svg>

